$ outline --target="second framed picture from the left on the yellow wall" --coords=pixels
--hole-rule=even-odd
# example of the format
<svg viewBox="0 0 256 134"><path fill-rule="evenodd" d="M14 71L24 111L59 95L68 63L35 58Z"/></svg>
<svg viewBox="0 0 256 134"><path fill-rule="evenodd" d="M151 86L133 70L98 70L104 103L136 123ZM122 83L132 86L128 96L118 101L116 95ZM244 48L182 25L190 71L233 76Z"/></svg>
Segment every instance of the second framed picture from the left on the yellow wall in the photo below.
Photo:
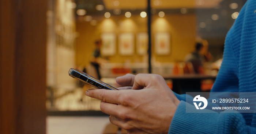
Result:
<svg viewBox="0 0 256 134"><path fill-rule="evenodd" d="M134 35L133 35L133 33L121 33L119 35L119 53L121 55L134 54Z"/></svg>

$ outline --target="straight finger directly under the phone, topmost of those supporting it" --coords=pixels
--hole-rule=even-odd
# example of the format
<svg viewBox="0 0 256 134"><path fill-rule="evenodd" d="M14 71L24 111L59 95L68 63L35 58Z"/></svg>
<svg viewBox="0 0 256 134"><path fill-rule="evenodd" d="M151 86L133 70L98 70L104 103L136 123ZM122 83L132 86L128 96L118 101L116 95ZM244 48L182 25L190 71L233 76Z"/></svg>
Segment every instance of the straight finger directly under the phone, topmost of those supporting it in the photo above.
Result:
<svg viewBox="0 0 256 134"><path fill-rule="evenodd" d="M85 92L85 95L104 102L120 104L118 100L121 95L120 91L122 90L89 89Z"/></svg>

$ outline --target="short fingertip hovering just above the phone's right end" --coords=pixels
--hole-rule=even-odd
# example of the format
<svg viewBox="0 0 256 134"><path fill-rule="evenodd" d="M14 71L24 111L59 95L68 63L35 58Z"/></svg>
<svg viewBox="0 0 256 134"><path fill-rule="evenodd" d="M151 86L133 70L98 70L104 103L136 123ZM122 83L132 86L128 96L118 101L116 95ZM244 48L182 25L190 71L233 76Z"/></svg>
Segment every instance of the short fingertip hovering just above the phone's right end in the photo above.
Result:
<svg viewBox="0 0 256 134"><path fill-rule="evenodd" d="M123 86L132 86L134 83L134 77L135 75L133 74L126 74L121 77L116 78L117 84L123 85Z"/></svg>

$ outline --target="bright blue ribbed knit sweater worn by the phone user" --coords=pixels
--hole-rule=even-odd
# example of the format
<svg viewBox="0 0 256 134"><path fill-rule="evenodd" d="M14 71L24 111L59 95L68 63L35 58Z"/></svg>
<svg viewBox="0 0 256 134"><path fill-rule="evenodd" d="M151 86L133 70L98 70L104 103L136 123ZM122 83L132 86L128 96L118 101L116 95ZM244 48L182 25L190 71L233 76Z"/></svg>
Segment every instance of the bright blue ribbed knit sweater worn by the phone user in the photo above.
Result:
<svg viewBox="0 0 256 134"><path fill-rule="evenodd" d="M229 30L225 40L223 62L212 92L256 92L256 0L248 0ZM225 94L223 94L225 95ZM254 113L186 113L185 95L172 119L168 134L256 134ZM218 96L221 98L221 96ZM224 96L223 96L224 97ZM255 98L254 98L255 99ZM189 107L191 106L191 107ZM195 106L189 105L193 111Z"/></svg>

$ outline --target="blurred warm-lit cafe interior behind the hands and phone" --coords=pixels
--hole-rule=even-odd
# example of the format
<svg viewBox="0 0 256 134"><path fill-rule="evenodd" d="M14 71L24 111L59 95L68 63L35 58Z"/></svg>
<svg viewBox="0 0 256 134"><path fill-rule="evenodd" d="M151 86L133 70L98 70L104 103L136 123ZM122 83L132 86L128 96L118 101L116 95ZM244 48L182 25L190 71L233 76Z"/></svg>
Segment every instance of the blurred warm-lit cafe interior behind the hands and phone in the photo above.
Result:
<svg viewBox="0 0 256 134"><path fill-rule="evenodd" d="M126 133L111 125L100 100L84 94L93 87L69 76L70 68L116 88L118 76L150 73L178 94L210 92L226 33L245 1L48 0L43 133ZM98 68L92 62L97 41ZM186 60L197 43L203 45L200 72Z"/></svg>

